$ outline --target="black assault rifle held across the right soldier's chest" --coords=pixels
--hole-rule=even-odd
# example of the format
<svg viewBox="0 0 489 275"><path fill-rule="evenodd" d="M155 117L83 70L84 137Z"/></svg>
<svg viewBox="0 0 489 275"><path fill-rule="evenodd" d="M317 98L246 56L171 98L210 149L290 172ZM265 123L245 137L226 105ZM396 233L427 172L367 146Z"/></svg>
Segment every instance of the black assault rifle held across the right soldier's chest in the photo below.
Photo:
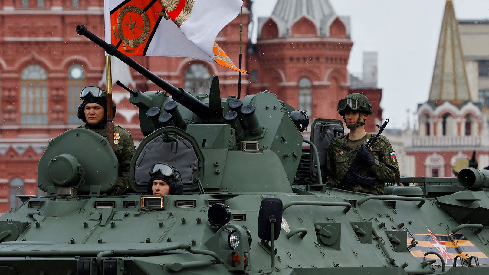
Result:
<svg viewBox="0 0 489 275"><path fill-rule="evenodd" d="M372 149L374 146L375 142L377 139L380 137L380 134L384 131L385 127L387 126L387 123L389 123L389 118L387 118L382 124L382 126L378 127L378 133L375 135L375 137L371 137L367 141L367 148ZM360 167L362 167L363 163L361 163L358 158L355 158L352 162L352 165L350 166L350 169L346 172L345 176L343 179L341 179L341 182L338 185L339 189L343 190L348 190L348 187L350 187L350 184L352 183L360 183L360 184L365 184L365 185L375 185L375 177L366 177L358 174L358 170Z"/></svg>

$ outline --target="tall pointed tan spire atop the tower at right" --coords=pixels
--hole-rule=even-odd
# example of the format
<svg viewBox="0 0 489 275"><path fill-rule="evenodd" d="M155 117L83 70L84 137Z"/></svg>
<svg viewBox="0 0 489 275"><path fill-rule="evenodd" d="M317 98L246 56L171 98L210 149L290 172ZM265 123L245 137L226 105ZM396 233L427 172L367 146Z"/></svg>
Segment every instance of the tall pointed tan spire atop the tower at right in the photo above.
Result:
<svg viewBox="0 0 489 275"><path fill-rule="evenodd" d="M436 104L450 101L455 105L471 101L458 22L451 0L446 0L445 4L428 100Z"/></svg>

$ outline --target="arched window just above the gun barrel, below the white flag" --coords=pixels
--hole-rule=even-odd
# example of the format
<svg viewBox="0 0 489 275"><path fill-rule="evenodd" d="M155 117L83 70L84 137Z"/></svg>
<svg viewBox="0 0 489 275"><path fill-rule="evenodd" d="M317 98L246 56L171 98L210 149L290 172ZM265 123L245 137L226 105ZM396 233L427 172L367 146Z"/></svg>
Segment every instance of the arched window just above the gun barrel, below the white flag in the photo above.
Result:
<svg viewBox="0 0 489 275"><path fill-rule="evenodd" d="M207 93L210 78L211 74L207 67L202 64L192 64L183 76L183 87L190 93Z"/></svg>

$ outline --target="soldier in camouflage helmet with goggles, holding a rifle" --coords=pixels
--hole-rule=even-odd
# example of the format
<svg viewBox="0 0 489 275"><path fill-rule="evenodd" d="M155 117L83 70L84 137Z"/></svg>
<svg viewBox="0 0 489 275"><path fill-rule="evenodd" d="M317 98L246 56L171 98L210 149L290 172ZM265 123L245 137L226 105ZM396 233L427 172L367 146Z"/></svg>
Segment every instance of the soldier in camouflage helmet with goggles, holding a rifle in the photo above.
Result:
<svg viewBox="0 0 489 275"><path fill-rule="evenodd" d="M352 93L338 102L337 110L343 116L350 133L331 140L326 154L326 183L338 187L352 161L358 158L362 163L358 174L375 178L375 184L355 181L350 184L349 190L383 194L384 183L398 183L400 172L396 153L386 137L380 135L372 150L366 146L366 141L376 135L365 132L365 120L368 115L374 114L372 104L365 95Z"/></svg>

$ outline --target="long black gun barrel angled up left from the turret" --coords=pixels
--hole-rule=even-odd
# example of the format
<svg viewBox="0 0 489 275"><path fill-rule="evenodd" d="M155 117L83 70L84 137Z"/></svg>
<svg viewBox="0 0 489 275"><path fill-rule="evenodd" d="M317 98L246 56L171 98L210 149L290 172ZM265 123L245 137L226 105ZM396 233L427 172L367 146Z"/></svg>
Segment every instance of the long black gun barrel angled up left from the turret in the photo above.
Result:
<svg viewBox="0 0 489 275"><path fill-rule="evenodd" d="M185 108L189 109L190 111L198 115L200 118L205 119L209 116L209 106L207 106L205 103L195 98L185 90L171 85L170 83L163 80L161 77L157 76L156 74L152 73L148 69L139 65L137 62L129 58L127 55L117 50L115 46L108 44L100 37L91 33L85 25L77 25L76 33L87 37L93 43L102 47L108 54L117 57L122 62L126 63L128 66L135 69L137 72L139 72L140 74L142 74L143 76L151 80L153 83L155 83L158 87L171 94L175 101L177 101Z"/></svg>

